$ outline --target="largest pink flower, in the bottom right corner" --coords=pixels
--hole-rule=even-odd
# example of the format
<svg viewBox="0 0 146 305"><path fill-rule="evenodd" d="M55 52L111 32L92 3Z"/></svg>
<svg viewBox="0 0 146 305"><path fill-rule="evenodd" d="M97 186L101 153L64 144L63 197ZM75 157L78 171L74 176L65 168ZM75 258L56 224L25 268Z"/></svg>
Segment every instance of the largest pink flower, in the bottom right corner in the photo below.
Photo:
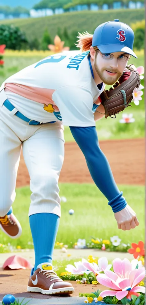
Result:
<svg viewBox="0 0 146 305"><path fill-rule="evenodd" d="M110 290L102 291L99 296L116 295L116 298L121 300L124 297L131 299L132 295L139 296L138 292L145 293L145 287L138 286L145 277L144 267L132 270L132 264L127 258L124 258L123 261L116 258L113 261L113 269L114 272L103 270L105 274L96 276L100 284L110 288Z"/></svg>

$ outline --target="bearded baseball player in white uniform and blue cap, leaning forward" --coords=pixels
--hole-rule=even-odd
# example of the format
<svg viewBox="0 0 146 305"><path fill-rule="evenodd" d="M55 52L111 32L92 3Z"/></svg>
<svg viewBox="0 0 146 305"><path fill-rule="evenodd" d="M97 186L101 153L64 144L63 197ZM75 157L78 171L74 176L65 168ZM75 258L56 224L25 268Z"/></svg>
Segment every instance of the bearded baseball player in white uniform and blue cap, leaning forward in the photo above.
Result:
<svg viewBox="0 0 146 305"><path fill-rule="evenodd" d="M130 56L137 58L132 50L134 33L115 19L99 25L93 35L79 33L78 38L80 51L48 56L10 76L0 88L0 226L12 238L21 234L11 205L22 147L30 175L29 221L35 252L27 290L43 294L74 291L52 266L61 216L58 180L64 159L63 126L70 127L118 228L139 225L115 183L95 129L95 121L104 116L100 94L105 84L115 84Z"/></svg>

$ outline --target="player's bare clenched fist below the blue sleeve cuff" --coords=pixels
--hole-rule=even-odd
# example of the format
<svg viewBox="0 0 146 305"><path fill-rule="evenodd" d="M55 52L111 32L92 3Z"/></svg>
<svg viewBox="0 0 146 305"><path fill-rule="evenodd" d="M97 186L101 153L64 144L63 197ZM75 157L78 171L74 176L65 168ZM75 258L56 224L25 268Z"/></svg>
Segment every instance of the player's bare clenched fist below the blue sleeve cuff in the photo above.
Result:
<svg viewBox="0 0 146 305"><path fill-rule="evenodd" d="M132 208L127 204L126 207L114 213L115 218L118 224L118 229L122 229L124 231L131 230L139 225L139 221L136 217L136 213L132 210Z"/></svg>

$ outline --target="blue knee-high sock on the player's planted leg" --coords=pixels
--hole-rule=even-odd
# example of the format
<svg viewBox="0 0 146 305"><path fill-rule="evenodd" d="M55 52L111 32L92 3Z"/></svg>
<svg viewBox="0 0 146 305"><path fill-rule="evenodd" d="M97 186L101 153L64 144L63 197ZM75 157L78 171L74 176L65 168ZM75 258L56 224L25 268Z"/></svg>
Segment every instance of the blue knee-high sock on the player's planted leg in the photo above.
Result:
<svg viewBox="0 0 146 305"><path fill-rule="evenodd" d="M43 262L52 264L59 219L58 215L52 213L38 213L29 216L35 253L34 271Z"/></svg>

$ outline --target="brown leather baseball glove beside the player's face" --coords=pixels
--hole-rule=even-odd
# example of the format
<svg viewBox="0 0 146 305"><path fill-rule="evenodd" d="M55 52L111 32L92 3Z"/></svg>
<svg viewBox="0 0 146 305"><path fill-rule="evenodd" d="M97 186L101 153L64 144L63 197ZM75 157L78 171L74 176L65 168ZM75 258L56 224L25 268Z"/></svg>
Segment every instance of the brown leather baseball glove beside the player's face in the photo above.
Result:
<svg viewBox="0 0 146 305"><path fill-rule="evenodd" d="M123 111L126 107L131 106L129 103L132 101L132 92L134 88L140 85L139 73L133 64L126 66L126 72L120 76L116 84L109 90L104 90L100 94L101 104L105 109L105 118L116 118L116 114ZM112 116L114 115L114 117Z"/></svg>

